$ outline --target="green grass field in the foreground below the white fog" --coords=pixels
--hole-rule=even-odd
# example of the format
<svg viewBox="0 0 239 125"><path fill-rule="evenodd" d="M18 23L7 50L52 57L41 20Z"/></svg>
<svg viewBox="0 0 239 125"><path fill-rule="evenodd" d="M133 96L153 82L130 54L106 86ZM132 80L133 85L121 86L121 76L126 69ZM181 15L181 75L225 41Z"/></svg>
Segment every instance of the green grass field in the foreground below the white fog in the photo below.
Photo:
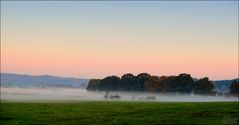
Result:
<svg viewBox="0 0 239 125"><path fill-rule="evenodd" d="M238 102L1 103L0 124L238 124Z"/></svg>

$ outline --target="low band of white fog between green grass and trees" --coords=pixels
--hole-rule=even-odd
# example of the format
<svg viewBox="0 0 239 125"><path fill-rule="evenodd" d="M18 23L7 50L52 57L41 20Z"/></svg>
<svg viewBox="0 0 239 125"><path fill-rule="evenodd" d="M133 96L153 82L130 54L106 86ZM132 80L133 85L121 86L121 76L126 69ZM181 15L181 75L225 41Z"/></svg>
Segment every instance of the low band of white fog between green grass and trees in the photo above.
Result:
<svg viewBox="0 0 239 125"><path fill-rule="evenodd" d="M54 102L54 101L160 101L160 102L225 102L239 101L231 96L199 96L138 92L109 92L119 99L104 98L105 92L87 92L74 88L19 88L1 87L1 101Z"/></svg>

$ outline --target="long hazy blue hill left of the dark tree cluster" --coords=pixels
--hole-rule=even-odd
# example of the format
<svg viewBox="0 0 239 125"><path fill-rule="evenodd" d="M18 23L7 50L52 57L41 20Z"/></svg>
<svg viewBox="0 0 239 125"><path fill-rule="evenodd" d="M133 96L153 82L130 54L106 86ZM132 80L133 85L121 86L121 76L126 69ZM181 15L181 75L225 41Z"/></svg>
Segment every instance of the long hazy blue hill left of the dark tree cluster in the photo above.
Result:
<svg viewBox="0 0 239 125"><path fill-rule="evenodd" d="M64 87L86 88L89 79L64 78L50 75L20 75L1 73L1 86L3 87Z"/></svg>

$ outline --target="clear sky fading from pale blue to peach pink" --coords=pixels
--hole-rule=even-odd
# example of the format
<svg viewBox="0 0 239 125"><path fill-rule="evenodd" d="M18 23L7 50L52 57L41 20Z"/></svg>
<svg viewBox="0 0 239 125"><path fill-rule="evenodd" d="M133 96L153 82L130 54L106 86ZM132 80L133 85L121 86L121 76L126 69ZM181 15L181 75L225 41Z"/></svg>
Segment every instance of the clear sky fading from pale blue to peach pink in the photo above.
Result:
<svg viewBox="0 0 239 125"><path fill-rule="evenodd" d="M238 1L1 1L1 72L239 75Z"/></svg>

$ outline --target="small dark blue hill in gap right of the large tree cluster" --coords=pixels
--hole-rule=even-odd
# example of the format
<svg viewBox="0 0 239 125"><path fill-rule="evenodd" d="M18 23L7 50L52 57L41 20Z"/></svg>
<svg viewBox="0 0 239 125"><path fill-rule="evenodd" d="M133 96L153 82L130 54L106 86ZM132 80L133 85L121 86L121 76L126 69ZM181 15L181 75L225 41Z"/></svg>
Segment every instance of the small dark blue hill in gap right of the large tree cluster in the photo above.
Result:
<svg viewBox="0 0 239 125"><path fill-rule="evenodd" d="M213 83L218 93L229 93L230 86L234 80L239 81L239 78L232 80L216 80L213 81Z"/></svg>

